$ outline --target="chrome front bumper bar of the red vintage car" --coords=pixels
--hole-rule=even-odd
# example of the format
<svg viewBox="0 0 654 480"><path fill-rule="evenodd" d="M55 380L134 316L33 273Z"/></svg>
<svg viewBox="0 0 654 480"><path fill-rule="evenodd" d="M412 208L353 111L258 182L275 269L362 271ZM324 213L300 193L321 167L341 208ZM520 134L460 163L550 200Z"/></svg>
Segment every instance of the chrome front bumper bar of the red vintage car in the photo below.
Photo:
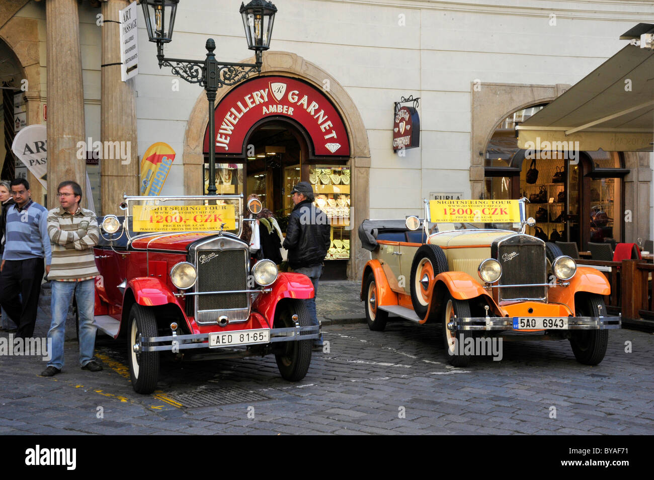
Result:
<svg viewBox="0 0 654 480"><path fill-rule="evenodd" d="M226 345L225 347L211 347L211 350L216 350L220 348L231 348L231 347L248 347L249 345L270 345L271 343L277 343L280 341L303 341L303 340L314 340L320 338L320 329L321 325L311 325L307 327L301 327L300 324L296 324L294 327L288 328L271 328L270 329L270 341L266 343L251 342L251 343L241 343L239 345ZM264 329L262 329L264 330ZM237 334L240 330L232 330L231 332ZM215 332L211 332L215 333ZM177 342L173 345L173 341ZM145 345L147 343L160 343L160 342L171 342L167 345ZM140 336L137 343L133 345L133 351L140 352L162 352L162 351L175 351L186 350L186 349L209 349L209 334L192 334L192 335L167 335L165 337L143 337Z"/></svg>

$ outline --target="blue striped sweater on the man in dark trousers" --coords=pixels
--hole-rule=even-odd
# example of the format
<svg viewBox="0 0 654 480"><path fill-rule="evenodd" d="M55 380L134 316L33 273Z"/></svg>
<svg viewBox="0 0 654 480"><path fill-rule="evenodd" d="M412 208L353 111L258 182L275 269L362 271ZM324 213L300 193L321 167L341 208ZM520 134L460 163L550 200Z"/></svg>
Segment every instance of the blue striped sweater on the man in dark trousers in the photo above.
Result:
<svg viewBox="0 0 654 480"><path fill-rule="evenodd" d="M21 211L18 211L18 205L9 207L3 260L40 257L50 265L52 255L47 218L47 209L33 200L28 201Z"/></svg>

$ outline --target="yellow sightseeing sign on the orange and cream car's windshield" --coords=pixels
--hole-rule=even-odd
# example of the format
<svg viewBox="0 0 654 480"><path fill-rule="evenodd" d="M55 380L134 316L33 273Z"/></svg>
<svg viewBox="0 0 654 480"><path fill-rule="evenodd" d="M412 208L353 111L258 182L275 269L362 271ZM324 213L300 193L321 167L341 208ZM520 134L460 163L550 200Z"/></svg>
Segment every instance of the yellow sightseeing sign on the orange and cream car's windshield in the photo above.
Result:
<svg viewBox="0 0 654 480"><path fill-rule="evenodd" d="M521 221L518 200L431 200L434 223L517 223Z"/></svg>

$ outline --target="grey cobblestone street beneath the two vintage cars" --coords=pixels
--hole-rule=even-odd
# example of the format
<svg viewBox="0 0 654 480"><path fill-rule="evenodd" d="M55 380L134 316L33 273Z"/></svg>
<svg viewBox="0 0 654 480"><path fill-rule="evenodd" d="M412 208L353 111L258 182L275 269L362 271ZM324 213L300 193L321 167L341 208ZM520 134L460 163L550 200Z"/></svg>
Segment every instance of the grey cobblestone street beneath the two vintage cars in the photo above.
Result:
<svg viewBox="0 0 654 480"><path fill-rule="evenodd" d="M3 434L654 434L654 335L610 332L604 362L578 364L568 341L504 342L504 358L446 362L436 326L330 324L324 296L341 292L345 316L358 284L320 285L328 351L288 383L274 356L175 363L163 359L160 392L129 383L124 341L99 335L98 373L65 346L60 375L39 377L41 358L0 356ZM48 320L41 311L36 335ZM3 334L7 336L7 334ZM632 352L625 352L625 342ZM203 406L205 405L205 406Z"/></svg>

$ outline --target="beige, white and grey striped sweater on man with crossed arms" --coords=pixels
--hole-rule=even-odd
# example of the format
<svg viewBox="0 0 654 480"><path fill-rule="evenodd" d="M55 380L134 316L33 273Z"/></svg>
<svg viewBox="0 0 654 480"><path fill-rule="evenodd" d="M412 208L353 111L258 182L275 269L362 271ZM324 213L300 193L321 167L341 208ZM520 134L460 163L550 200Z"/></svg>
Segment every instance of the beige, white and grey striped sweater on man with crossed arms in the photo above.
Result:
<svg viewBox="0 0 654 480"><path fill-rule="evenodd" d="M75 281L99 275L93 247L100 237L95 213L79 208L73 215L59 207L48 213L52 266L48 280Z"/></svg>

